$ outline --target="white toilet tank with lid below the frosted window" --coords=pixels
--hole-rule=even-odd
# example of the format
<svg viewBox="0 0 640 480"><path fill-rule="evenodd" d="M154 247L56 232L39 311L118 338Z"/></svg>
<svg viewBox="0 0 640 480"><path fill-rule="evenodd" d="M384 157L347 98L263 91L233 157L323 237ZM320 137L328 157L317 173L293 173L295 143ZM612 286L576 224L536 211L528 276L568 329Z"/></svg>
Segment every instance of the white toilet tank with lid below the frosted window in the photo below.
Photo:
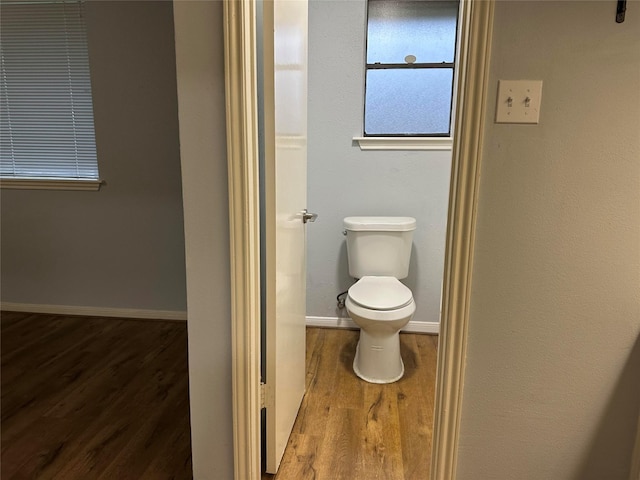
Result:
<svg viewBox="0 0 640 480"><path fill-rule="evenodd" d="M409 275L409 259L416 219L412 217L347 217L349 275Z"/></svg>

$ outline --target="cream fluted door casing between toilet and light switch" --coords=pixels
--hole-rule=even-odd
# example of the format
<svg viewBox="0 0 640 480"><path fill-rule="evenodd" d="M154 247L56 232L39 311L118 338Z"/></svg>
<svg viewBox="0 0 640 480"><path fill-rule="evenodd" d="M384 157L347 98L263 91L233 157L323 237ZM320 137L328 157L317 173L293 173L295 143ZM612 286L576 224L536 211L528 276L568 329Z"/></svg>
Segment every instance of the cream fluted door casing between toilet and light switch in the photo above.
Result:
<svg viewBox="0 0 640 480"><path fill-rule="evenodd" d="M431 480L456 478L494 0L462 0ZM464 111L464 114L461 112Z"/></svg>

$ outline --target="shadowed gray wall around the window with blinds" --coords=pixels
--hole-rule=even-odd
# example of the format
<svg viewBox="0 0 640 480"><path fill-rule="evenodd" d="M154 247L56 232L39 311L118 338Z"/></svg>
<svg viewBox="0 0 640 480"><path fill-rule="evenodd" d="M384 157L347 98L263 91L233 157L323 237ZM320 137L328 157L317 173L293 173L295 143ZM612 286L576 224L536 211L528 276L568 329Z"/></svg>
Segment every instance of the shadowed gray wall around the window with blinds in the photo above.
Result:
<svg viewBox="0 0 640 480"><path fill-rule="evenodd" d="M86 8L99 192L2 190L2 301L184 311L170 2Z"/></svg>

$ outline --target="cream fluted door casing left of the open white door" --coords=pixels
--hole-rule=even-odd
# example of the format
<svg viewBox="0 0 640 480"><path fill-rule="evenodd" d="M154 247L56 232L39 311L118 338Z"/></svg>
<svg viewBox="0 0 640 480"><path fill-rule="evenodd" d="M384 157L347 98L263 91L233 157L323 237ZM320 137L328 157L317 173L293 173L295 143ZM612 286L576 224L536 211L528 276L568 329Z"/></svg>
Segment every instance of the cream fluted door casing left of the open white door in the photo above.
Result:
<svg viewBox="0 0 640 480"><path fill-rule="evenodd" d="M260 205L256 2L223 2L233 460L236 480L260 479Z"/></svg>

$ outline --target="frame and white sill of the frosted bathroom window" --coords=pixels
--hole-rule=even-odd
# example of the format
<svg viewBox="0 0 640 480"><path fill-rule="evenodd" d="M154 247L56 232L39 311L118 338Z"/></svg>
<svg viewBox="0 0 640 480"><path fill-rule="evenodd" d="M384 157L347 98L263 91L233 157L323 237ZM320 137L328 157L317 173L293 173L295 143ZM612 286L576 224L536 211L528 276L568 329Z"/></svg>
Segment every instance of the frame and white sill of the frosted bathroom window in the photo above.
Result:
<svg viewBox="0 0 640 480"><path fill-rule="evenodd" d="M369 2L366 2L365 12L365 44L364 44L364 79L363 79L363 105L362 105L362 136L353 137L354 144L358 144L362 150L451 150L453 148L453 122L456 105L455 92L458 83L459 44L460 44L460 14L461 0L457 3L455 44L452 62L420 62L420 63L368 63L367 53L369 47ZM369 70L382 69L447 69L452 71L451 103L449 109L449 131L442 133L367 133L365 129L366 119L366 95L367 73Z"/></svg>

